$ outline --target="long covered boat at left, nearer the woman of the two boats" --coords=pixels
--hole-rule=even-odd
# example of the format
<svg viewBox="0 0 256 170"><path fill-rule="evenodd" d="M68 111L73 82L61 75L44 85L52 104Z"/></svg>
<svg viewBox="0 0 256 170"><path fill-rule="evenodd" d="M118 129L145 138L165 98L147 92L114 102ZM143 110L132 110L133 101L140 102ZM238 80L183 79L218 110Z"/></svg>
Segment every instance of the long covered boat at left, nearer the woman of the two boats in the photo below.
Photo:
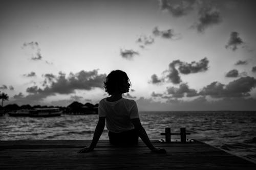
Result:
<svg viewBox="0 0 256 170"><path fill-rule="evenodd" d="M30 112L31 117L50 117L60 116L62 111L59 108L36 108L35 111Z"/></svg>

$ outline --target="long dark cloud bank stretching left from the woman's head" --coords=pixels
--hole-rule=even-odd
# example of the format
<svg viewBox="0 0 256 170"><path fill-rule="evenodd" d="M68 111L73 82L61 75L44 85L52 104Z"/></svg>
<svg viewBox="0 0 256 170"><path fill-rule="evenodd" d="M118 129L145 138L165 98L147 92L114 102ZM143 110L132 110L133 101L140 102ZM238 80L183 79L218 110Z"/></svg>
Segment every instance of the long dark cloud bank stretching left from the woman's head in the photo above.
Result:
<svg viewBox="0 0 256 170"><path fill-rule="evenodd" d="M65 74L59 72L58 76L51 74L45 75L46 79L56 77L49 81L49 85L45 87L32 86L27 88L29 93L24 97L25 101L38 101L45 99L47 96L58 94L71 94L75 90L92 90L93 88L102 88L105 74L98 74L98 70L84 71L81 70L76 74L72 72L66 77Z"/></svg>

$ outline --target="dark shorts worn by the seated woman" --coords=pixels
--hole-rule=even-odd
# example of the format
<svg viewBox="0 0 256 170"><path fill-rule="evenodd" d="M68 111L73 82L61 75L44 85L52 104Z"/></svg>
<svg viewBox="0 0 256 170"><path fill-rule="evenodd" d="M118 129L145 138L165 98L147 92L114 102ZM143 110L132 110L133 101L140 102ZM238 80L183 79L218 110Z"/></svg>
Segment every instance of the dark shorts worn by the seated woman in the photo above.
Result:
<svg viewBox="0 0 256 170"><path fill-rule="evenodd" d="M139 134L135 129L121 133L109 132L109 139L114 145L131 146L138 144Z"/></svg>

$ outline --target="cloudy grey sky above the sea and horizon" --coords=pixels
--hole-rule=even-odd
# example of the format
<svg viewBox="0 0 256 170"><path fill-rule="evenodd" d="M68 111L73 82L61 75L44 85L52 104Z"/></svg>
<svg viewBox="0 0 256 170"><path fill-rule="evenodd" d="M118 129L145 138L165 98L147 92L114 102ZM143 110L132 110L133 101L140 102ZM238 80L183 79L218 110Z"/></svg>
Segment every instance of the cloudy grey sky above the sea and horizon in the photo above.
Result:
<svg viewBox="0 0 256 170"><path fill-rule="evenodd" d="M140 110L255 110L255 1L1 1L5 104L96 104L124 70Z"/></svg>

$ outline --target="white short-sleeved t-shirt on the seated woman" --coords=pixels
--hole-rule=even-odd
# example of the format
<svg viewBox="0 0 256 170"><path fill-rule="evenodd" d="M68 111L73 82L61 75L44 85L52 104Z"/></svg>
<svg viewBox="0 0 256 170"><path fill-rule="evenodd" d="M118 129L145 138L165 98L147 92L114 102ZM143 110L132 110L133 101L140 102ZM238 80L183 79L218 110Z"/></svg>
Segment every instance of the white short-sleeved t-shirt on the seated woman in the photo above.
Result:
<svg viewBox="0 0 256 170"><path fill-rule="evenodd" d="M99 117L106 117L106 128L110 132L120 133L134 129L130 119L139 118L134 100L121 98L109 102L106 98L99 102Z"/></svg>

